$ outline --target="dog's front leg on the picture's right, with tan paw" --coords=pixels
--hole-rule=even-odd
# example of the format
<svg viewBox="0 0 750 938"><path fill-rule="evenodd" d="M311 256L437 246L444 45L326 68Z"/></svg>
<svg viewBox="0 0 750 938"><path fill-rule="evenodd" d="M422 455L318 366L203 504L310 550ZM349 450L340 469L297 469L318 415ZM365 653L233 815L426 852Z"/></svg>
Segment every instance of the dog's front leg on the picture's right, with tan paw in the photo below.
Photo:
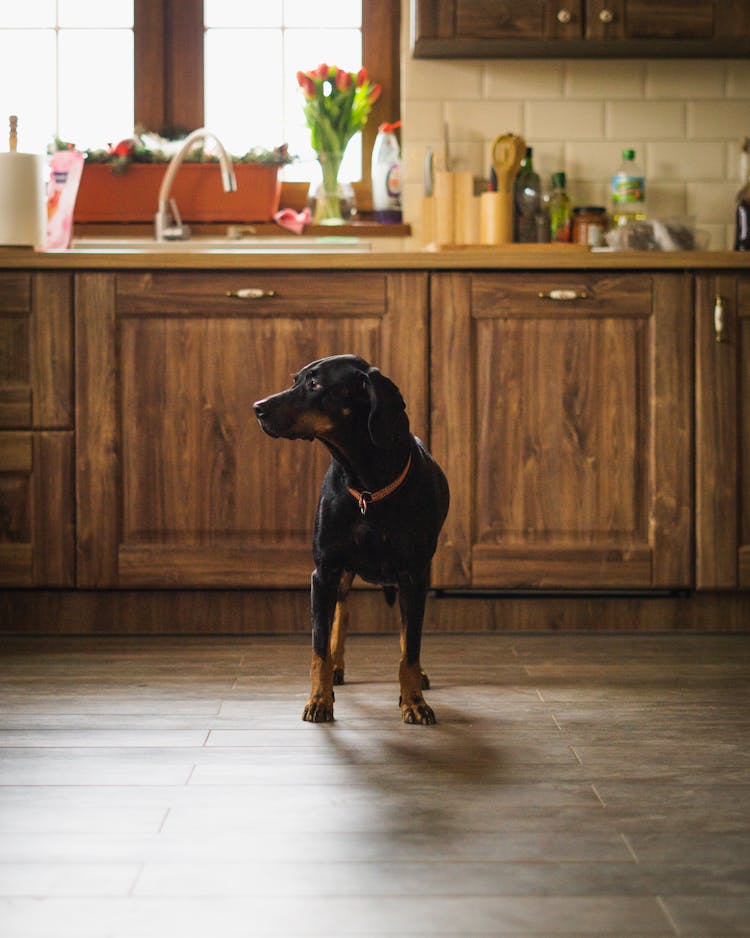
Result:
<svg viewBox="0 0 750 938"><path fill-rule="evenodd" d="M409 577L399 584L401 610L401 663L398 699L404 723L435 723L435 714L422 696L424 672L419 664L427 577Z"/></svg>

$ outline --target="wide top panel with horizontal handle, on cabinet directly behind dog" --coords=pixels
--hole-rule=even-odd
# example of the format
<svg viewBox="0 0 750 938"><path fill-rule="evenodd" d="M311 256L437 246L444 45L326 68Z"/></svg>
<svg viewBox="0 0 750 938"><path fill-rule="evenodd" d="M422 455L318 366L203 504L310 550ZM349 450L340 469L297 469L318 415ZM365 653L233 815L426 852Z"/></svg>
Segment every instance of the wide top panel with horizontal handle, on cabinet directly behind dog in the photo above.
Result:
<svg viewBox="0 0 750 938"><path fill-rule="evenodd" d="M381 316L386 285L378 272L120 274L116 302L125 315Z"/></svg>

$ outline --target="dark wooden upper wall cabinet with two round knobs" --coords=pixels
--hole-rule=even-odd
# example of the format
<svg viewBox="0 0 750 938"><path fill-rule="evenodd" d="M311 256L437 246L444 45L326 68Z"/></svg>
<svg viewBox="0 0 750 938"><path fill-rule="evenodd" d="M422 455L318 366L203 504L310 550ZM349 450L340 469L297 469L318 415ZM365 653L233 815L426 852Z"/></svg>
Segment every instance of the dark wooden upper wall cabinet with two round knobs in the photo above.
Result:
<svg viewBox="0 0 750 938"><path fill-rule="evenodd" d="M750 0L412 0L417 58L750 55Z"/></svg>

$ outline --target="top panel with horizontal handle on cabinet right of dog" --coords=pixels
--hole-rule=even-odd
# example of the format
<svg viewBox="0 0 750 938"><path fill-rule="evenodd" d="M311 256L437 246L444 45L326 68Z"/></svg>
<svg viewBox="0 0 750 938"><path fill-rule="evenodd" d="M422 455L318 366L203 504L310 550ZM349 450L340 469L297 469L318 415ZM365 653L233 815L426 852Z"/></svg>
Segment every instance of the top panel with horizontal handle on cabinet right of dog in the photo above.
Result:
<svg viewBox="0 0 750 938"><path fill-rule="evenodd" d="M507 317L634 316L651 313L647 274L477 274L471 282L475 319Z"/></svg>

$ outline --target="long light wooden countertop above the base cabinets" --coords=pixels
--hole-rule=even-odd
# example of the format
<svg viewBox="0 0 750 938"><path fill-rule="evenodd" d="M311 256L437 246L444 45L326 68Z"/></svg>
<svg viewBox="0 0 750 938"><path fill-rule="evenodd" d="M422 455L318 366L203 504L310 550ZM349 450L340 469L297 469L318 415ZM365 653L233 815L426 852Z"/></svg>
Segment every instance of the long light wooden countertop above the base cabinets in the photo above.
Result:
<svg viewBox="0 0 750 938"><path fill-rule="evenodd" d="M505 245L401 250L374 244L361 253L201 253L34 251L0 247L0 269L14 270L750 270L750 253L733 251L607 252L575 245Z"/></svg>

